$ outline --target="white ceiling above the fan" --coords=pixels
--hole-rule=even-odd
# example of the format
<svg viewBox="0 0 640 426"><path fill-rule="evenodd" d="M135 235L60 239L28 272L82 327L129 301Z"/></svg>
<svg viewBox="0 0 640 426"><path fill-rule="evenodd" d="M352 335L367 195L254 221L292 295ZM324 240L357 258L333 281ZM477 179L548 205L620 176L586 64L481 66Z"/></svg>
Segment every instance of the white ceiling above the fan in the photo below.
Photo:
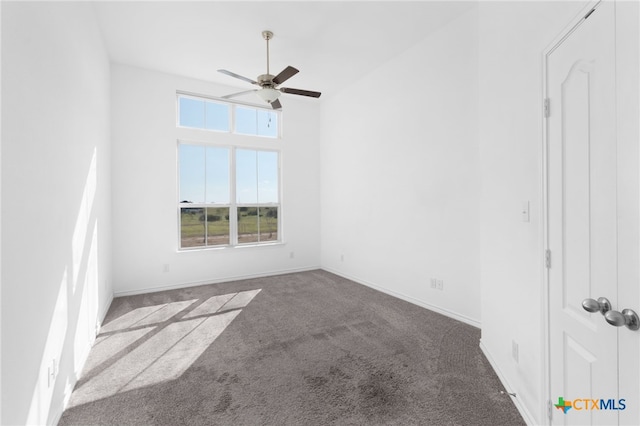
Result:
<svg viewBox="0 0 640 426"><path fill-rule="evenodd" d="M475 1L96 2L112 61L237 87L266 72L300 70L287 87L330 96L475 7ZM398 70L401 79L403 70ZM419 82L416 82L418 84ZM393 82L380 82L393 84ZM223 93L220 96L224 95Z"/></svg>

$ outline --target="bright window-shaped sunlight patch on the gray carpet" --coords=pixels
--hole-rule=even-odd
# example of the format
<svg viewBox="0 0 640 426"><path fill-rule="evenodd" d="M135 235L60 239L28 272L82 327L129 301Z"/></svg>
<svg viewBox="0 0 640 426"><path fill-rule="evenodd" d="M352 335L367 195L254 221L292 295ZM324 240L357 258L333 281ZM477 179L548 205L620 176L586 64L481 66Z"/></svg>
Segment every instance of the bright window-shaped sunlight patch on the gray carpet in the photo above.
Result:
<svg viewBox="0 0 640 426"><path fill-rule="evenodd" d="M179 378L259 292L140 307L111 321L69 406ZM105 341L109 345L101 345Z"/></svg>

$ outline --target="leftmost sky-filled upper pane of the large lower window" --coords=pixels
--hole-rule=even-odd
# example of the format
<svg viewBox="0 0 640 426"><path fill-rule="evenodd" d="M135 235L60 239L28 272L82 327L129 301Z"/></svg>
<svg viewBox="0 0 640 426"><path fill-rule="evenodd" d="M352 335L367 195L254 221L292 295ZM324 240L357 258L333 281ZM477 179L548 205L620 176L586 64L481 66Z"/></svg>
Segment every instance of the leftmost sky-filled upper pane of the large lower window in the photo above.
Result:
<svg viewBox="0 0 640 426"><path fill-rule="evenodd" d="M205 183L204 147L178 146L180 157L180 202L203 203Z"/></svg>

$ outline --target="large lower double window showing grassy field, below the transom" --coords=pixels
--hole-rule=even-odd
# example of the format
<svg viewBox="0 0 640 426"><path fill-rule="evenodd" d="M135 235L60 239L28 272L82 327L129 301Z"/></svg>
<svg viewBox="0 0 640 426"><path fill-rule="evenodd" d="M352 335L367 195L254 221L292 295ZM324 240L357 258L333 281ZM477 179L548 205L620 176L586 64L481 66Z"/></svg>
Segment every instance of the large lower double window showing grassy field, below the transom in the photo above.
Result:
<svg viewBox="0 0 640 426"><path fill-rule="evenodd" d="M277 151L180 143L178 155L180 248L279 241Z"/></svg>

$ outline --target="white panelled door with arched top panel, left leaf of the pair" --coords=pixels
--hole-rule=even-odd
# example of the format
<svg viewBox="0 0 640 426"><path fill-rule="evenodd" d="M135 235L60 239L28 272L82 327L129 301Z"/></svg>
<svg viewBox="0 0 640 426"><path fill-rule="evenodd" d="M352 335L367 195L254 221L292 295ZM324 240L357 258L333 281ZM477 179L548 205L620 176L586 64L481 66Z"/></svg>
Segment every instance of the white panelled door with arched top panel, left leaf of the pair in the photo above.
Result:
<svg viewBox="0 0 640 426"><path fill-rule="evenodd" d="M618 424L631 402L619 394L625 377L618 350L619 339L637 331L612 326L582 305L604 297L612 310L637 309L618 300L625 274L618 259L626 247L619 244L625 230L618 220L624 203L618 199L615 36L615 4L603 1L547 54L552 424Z"/></svg>

